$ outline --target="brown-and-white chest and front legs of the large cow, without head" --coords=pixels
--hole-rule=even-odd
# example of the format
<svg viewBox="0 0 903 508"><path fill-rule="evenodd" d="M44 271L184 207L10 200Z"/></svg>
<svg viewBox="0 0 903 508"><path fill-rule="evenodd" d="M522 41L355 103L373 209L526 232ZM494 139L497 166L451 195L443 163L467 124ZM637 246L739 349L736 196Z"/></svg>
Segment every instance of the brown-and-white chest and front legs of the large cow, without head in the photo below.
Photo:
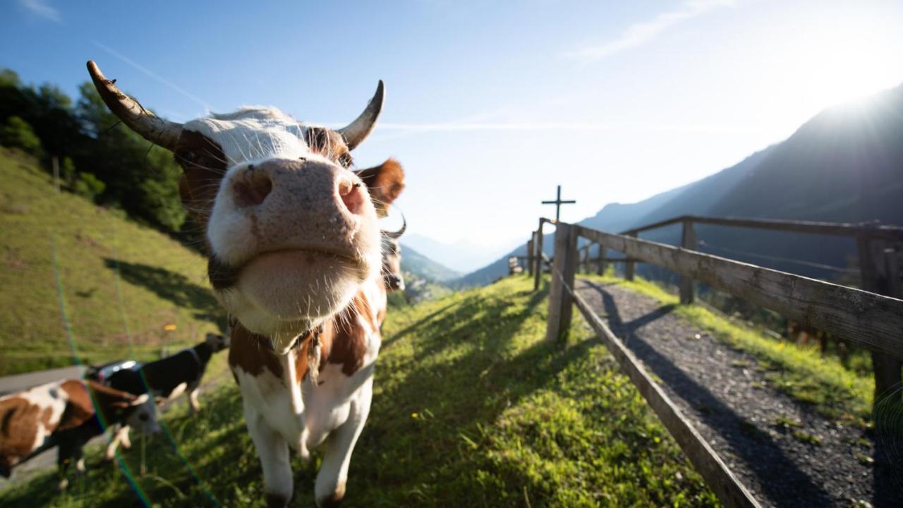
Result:
<svg viewBox="0 0 903 508"><path fill-rule="evenodd" d="M284 503L292 494L288 449L307 460L327 437L314 494L321 503L339 501L344 494L351 451L370 410L380 316L385 316L385 288L379 280L368 286L339 317L323 325L319 354L314 334L285 355L261 348L261 337L240 326L232 335L229 365L272 503Z"/></svg>

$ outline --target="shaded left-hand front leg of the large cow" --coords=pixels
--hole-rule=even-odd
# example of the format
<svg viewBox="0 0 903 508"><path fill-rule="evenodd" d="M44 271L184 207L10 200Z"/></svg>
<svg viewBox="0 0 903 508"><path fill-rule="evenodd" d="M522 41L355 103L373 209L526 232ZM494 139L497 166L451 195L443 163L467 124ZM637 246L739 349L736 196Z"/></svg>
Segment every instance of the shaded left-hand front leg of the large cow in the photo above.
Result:
<svg viewBox="0 0 903 508"><path fill-rule="evenodd" d="M263 415L245 404L247 430L254 440L260 466L264 469L264 491L269 508L283 508L292 499L292 466L284 437L266 423Z"/></svg>

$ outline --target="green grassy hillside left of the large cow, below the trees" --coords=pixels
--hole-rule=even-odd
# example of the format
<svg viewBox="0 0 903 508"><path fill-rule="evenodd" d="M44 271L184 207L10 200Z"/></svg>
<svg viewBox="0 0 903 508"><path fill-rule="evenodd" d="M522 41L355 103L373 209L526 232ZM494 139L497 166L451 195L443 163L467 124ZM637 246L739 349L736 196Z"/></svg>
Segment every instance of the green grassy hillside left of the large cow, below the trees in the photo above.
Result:
<svg viewBox="0 0 903 508"><path fill-rule="evenodd" d="M128 356L126 322L142 358L215 329L221 313L201 257L179 242L70 193L54 193L33 160L0 149L0 375L72 362L54 276L83 362ZM174 324L172 332L163 326Z"/></svg>

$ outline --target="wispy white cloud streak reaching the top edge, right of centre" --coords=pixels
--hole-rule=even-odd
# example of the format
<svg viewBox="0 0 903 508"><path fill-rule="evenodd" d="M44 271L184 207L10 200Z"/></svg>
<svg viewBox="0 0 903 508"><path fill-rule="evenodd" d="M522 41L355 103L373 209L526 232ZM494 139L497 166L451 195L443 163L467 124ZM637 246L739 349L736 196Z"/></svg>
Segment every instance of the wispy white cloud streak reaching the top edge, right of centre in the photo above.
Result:
<svg viewBox="0 0 903 508"><path fill-rule="evenodd" d="M582 61L597 61L614 53L651 42L675 24L699 17L721 7L731 7L734 3L734 0L691 0L685 2L680 9L656 15L651 21L629 25L613 41L583 46L572 52L564 53L564 56Z"/></svg>

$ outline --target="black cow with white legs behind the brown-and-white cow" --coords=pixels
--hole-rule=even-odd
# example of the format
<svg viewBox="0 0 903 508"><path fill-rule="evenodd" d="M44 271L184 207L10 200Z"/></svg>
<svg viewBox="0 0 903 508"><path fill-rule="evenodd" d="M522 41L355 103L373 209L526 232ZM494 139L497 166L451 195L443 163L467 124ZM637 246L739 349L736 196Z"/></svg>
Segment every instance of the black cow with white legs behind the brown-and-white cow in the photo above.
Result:
<svg viewBox="0 0 903 508"><path fill-rule="evenodd" d="M213 353L228 348L228 338L219 334L207 334L204 342L183 349L179 353L167 356L163 360L144 363L137 369L123 369L111 374L104 384L116 390L127 391L135 395L149 393L158 402L178 398L182 393L188 394L191 412L200 410L198 389L200 379L207 370L207 363ZM128 438L128 425L123 424L114 432L114 437L107 445L105 458L113 460L116 447L132 447Z"/></svg>

